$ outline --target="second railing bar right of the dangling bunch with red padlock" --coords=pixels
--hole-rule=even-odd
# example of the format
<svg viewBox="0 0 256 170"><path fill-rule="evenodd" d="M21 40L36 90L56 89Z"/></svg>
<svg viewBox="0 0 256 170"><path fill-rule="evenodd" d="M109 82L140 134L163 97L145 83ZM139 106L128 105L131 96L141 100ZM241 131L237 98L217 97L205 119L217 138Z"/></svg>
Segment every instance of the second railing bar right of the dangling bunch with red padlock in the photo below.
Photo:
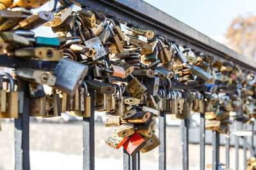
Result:
<svg viewBox="0 0 256 170"><path fill-rule="evenodd" d="M188 130L189 120L182 120L182 169L188 170Z"/></svg>

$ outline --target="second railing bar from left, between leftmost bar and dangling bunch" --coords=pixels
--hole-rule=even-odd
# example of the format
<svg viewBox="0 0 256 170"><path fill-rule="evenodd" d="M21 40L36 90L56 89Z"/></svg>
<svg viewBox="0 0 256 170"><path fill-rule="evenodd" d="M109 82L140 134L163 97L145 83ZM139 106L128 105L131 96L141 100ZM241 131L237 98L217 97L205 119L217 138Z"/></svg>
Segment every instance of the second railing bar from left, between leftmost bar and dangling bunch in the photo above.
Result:
<svg viewBox="0 0 256 170"><path fill-rule="evenodd" d="M89 90L91 96L91 116L83 118L83 170L95 169L94 150L94 91Z"/></svg>

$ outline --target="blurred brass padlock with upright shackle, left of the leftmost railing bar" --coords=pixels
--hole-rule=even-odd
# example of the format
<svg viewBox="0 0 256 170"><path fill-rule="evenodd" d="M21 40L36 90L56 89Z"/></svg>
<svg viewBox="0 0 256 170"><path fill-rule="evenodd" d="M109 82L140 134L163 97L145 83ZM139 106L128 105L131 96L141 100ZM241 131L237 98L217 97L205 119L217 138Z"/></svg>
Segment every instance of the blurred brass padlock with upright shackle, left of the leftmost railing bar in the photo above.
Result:
<svg viewBox="0 0 256 170"><path fill-rule="evenodd" d="M15 92L13 78L9 73L0 73L0 76L6 76L10 83L10 91L4 92L1 90L1 118L18 118L18 92ZM4 97L2 93L6 93L6 99L4 101ZM5 95L4 95L5 96ZM4 105L5 104L5 105ZM4 110L5 108L5 110Z"/></svg>

